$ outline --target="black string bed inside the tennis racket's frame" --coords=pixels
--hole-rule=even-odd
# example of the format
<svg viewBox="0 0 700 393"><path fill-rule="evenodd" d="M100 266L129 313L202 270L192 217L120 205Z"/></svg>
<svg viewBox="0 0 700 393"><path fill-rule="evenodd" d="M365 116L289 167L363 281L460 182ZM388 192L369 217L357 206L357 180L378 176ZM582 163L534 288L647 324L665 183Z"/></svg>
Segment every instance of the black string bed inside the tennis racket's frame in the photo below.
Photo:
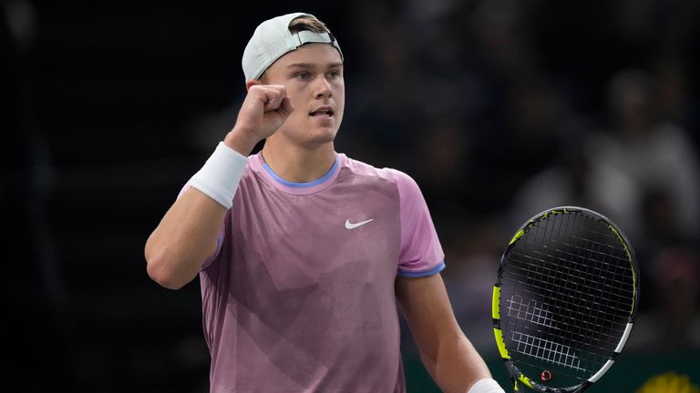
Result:
<svg viewBox="0 0 700 393"><path fill-rule="evenodd" d="M634 294L619 237L582 214L544 217L526 230L507 263L512 349L561 366L572 378L600 368L623 334ZM506 292L502 288L501 297Z"/></svg>

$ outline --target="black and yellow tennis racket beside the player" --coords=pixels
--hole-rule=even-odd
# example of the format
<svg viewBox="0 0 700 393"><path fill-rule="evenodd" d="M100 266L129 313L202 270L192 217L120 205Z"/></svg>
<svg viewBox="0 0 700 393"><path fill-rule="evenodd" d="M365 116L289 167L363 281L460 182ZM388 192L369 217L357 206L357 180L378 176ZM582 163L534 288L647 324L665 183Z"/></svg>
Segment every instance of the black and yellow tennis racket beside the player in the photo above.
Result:
<svg viewBox="0 0 700 393"><path fill-rule="evenodd" d="M638 298L633 248L608 218L582 207L530 218L493 288L494 334L514 390L590 388L622 352Z"/></svg>

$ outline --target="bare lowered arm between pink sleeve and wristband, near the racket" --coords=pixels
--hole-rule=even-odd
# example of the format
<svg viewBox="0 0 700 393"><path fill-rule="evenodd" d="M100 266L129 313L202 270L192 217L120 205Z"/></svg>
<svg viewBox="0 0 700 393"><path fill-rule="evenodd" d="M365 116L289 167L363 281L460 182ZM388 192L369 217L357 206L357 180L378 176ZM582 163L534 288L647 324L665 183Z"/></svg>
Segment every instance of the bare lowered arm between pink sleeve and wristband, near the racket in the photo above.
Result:
<svg viewBox="0 0 700 393"><path fill-rule="evenodd" d="M467 393L480 379L491 378L486 363L459 328L439 274L396 277L396 297L420 358L439 388L446 393Z"/></svg>

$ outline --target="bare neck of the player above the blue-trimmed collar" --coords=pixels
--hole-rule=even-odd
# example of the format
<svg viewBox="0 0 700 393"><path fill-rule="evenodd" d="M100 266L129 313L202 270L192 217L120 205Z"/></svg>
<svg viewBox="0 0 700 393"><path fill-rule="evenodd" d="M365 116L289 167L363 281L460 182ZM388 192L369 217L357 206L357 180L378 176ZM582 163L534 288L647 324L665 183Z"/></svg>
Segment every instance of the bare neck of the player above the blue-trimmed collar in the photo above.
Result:
<svg viewBox="0 0 700 393"><path fill-rule="evenodd" d="M262 158L277 176L292 183L308 183L323 177L335 163L333 142L305 148L277 144L268 139Z"/></svg>

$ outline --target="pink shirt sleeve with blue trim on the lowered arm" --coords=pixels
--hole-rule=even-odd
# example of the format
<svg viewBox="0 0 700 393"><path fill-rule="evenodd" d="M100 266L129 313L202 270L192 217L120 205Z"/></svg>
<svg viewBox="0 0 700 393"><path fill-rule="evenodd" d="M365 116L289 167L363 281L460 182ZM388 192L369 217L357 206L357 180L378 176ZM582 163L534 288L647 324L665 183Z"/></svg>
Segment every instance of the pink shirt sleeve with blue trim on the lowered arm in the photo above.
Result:
<svg viewBox="0 0 700 393"><path fill-rule="evenodd" d="M410 176L396 171L401 221L398 274L425 277L445 268L445 254L433 225L426 200Z"/></svg>

